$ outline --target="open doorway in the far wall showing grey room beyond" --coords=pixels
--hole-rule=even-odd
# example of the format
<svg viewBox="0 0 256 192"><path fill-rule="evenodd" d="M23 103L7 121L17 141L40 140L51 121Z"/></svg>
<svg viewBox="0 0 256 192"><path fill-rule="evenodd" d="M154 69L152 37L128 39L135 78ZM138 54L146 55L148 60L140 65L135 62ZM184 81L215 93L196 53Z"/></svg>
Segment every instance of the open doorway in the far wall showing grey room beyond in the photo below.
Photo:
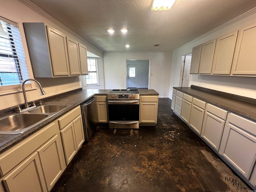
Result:
<svg viewBox="0 0 256 192"><path fill-rule="evenodd" d="M150 60L126 60L126 88L148 89Z"/></svg>

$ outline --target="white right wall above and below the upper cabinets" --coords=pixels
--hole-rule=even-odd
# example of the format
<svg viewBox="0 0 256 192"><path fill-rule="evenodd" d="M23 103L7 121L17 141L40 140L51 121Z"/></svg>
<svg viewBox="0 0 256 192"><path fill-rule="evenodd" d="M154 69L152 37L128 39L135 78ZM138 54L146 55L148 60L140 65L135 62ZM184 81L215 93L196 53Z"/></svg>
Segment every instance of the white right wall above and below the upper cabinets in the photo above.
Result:
<svg viewBox="0 0 256 192"><path fill-rule="evenodd" d="M228 22L228 25L219 27L208 34L201 36L195 40L192 40L188 44L181 46L173 51L172 54L172 70L170 78L170 93L169 97L172 98L172 88L179 86L180 70L182 66L182 56L192 52L192 48L208 40L217 38L232 32L239 30L250 24L256 23L256 13L246 16L240 16L239 19ZM208 75L191 75L190 85L201 86L213 90L222 92L228 92L231 94L237 94L240 96L246 96L256 99L256 77L234 77L234 76L208 76Z"/></svg>

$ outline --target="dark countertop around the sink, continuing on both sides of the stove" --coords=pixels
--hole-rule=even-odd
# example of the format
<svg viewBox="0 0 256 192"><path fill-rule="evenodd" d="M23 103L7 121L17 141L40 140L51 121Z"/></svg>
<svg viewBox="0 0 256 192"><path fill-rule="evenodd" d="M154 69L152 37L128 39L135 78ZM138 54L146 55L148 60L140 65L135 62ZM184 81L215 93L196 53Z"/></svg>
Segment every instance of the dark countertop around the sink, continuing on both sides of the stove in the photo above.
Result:
<svg viewBox="0 0 256 192"><path fill-rule="evenodd" d="M66 112L72 110L73 108L79 106L80 104L82 104L86 100L90 99L94 95L102 95L102 94L105 95L105 94L108 94L110 91L111 90L96 90L96 89L82 90L82 89L78 89L78 90L74 90L71 92L62 93L60 95L51 96L51 97L49 97L49 99L48 98L43 99L44 100L43 104L70 104L71 106L68 106L65 110L62 110L61 112L54 114L50 118L44 120L40 124L25 131L24 133L0 134L0 154L4 151L8 150L9 148L11 148L18 142L24 140L25 138L28 138L28 136L34 134L38 130L42 129L46 125L53 122L54 120L57 120L58 118L60 118L60 116L64 115ZM152 89L151 90L145 89L140 94L152 94L152 95L157 94L158 95L158 93ZM0 117L7 115L7 114L10 115L10 112L8 110L2 110L2 112L0 112Z"/></svg>

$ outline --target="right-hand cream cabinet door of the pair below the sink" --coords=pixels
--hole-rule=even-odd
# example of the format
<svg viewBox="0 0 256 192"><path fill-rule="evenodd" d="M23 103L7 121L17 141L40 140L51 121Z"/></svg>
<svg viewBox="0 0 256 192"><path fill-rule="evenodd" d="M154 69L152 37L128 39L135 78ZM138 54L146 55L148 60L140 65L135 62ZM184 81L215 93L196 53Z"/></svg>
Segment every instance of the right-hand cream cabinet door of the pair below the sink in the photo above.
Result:
<svg viewBox="0 0 256 192"><path fill-rule="evenodd" d="M48 191L50 191L66 168L59 135L55 135L46 142L46 144L38 150L38 153L44 172L46 186Z"/></svg>

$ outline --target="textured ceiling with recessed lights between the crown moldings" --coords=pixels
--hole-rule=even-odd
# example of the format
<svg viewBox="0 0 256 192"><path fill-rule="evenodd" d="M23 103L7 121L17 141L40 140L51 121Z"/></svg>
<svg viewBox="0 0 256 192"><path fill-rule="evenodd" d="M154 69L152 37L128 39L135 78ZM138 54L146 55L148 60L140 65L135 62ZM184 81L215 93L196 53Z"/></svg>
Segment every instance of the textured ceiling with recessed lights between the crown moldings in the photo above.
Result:
<svg viewBox="0 0 256 192"><path fill-rule="evenodd" d="M30 1L103 52L171 51L256 7L256 0L176 0L168 11L152 11L153 0Z"/></svg>

